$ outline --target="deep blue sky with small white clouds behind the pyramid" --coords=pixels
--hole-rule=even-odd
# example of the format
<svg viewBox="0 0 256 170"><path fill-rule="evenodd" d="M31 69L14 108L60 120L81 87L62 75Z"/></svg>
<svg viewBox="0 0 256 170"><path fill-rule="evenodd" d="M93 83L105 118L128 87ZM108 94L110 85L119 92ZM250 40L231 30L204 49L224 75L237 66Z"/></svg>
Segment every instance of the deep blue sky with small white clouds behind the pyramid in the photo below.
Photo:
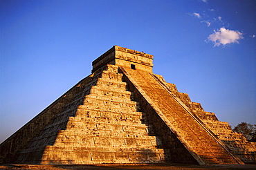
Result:
<svg viewBox="0 0 256 170"><path fill-rule="evenodd" d="M0 142L91 73L113 45L232 127L256 124L256 1L1 0Z"/></svg>

